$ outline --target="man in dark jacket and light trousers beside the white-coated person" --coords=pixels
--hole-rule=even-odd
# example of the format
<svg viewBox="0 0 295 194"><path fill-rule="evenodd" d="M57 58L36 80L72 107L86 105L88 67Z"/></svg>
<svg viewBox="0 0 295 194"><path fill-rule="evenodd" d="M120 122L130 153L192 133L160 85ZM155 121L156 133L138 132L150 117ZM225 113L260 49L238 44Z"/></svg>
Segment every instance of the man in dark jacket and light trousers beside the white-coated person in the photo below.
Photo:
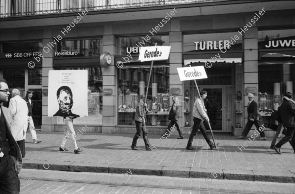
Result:
<svg viewBox="0 0 295 194"><path fill-rule="evenodd" d="M34 126L34 122L32 119L32 107L33 107L33 101L32 101L32 96L33 96L33 91L32 90L28 90L27 91L27 95L26 97L24 97L23 99L27 102L28 105L28 109L29 109L29 113L28 113L28 125L29 125L29 132L32 136L33 139L33 143L34 144L38 144L40 142L42 142L42 140L38 140L37 139L37 134L36 134L36 130L35 130L35 126Z"/></svg>

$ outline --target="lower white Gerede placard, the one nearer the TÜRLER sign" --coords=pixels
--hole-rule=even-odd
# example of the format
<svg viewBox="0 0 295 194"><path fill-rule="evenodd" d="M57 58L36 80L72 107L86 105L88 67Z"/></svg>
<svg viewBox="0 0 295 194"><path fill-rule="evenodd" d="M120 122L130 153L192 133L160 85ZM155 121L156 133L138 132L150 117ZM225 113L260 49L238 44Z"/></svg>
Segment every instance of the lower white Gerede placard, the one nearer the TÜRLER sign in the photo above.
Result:
<svg viewBox="0 0 295 194"><path fill-rule="evenodd" d="M177 68L177 72L180 81L207 78L204 66Z"/></svg>

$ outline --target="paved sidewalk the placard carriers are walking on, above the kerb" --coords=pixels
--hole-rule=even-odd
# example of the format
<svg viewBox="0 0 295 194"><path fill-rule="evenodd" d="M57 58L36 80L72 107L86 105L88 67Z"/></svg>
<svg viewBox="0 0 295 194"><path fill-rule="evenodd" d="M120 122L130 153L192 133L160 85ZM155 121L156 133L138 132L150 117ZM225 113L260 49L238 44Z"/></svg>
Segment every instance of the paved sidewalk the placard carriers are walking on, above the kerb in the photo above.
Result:
<svg viewBox="0 0 295 194"><path fill-rule="evenodd" d="M269 148L271 138L267 138L266 141L248 140L248 146L245 146L245 140L238 140L231 134L214 133L214 136L220 143L217 150L210 150L202 134L198 133L193 142L193 146L197 148L195 151L185 149L188 135L182 140L176 139L177 136L160 139L160 135L148 135L149 142L157 149L146 151L141 138L138 140L138 147L141 150L136 151L130 147L133 134L84 132L77 136L77 144L85 150L80 154L74 154L74 148L71 146L68 146L69 152L58 152L62 140L61 132L38 133L37 137L43 139L39 144L32 144L31 136L27 135L27 154L24 163L37 161L44 163L44 169L49 170L54 170L51 169L51 162L60 162L60 164L81 162L93 166L145 165L173 169L185 167L213 169L216 173L218 170L248 170L254 174L261 172L295 179L295 154L290 144L284 145L281 149L283 154L278 155Z"/></svg>

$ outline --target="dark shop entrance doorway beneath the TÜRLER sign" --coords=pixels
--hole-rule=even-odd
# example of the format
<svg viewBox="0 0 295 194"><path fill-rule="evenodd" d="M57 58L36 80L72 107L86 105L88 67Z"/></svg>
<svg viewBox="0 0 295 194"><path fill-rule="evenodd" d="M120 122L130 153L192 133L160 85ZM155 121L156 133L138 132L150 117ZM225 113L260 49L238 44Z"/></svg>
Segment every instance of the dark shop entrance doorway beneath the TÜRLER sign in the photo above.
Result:
<svg viewBox="0 0 295 194"><path fill-rule="evenodd" d="M228 85L200 86L200 92L202 90L207 91L205 106L212 130L230 132L232 126L232 87ZM209 129L208 126L206 128Z"/></svg>

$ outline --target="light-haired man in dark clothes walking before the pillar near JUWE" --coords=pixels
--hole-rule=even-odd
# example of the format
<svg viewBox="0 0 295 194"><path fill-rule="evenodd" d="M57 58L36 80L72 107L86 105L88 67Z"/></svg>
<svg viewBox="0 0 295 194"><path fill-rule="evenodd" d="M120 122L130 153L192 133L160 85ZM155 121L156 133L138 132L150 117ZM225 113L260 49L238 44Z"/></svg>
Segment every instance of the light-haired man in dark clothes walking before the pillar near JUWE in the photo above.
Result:
<svg viewBox="0 0 295 194"><path fill-rule="evenodd" d="M239 136L238 139L247 139L247 135L248 135L251 127L253 126L253 124L256 126L257 130L260 128L259 123L258 123L260 115L257 113L258 105L253 100L253 98L254 98L254 95L249 93L248 94L249 103L248 103L248 108L247 108L248 122L245 126L245 129L242 132L242 136ZM266 135L265 135L264 131L263 130L259 130L259 131L260 131L261 138L259 138L258 140L266 140Z"/></svg>

